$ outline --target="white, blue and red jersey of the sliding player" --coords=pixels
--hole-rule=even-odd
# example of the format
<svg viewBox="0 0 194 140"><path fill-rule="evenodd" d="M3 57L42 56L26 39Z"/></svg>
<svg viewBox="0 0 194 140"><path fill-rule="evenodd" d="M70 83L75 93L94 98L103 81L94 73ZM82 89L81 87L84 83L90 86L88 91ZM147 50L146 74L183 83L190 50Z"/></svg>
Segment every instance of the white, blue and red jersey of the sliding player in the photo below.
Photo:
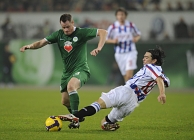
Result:
<svg viewBox="0 0 194 140"><path fill-rule="evenodd" d="M157 77L163 79L165 87L170 85L170 80L163 74L161 66L147 64L127 81L126 86L134 89L138 101L142 101L157 84L155 81Z"/></svg>

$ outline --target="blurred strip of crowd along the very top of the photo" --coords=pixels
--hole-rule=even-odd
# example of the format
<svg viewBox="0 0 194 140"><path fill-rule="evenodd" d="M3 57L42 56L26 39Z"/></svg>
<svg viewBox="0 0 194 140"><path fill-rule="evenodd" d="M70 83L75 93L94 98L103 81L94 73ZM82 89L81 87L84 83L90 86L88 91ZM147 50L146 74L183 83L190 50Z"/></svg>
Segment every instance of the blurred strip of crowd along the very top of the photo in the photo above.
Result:
<svg viewBox="0 0 194 140"><path fill-rule="evenodd" d="M165 1L166 11L191 11L194 2ZM129 11L160 11L162 0L1 0L2 12L112 11L124 7ZM186 7L183 6L186 3ZM172 6L176 5L176 6Z"/></svg>

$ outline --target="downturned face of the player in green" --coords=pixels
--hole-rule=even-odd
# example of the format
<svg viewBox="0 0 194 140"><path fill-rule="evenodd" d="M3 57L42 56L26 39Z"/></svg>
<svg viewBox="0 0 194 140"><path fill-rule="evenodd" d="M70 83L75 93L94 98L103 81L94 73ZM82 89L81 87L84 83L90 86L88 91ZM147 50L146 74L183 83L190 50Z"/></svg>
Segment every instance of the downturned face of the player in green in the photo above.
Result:
<svg viewBox="0 0 194 140"><path fill-rule="evenodd" d="M66 22L61 21L60 24L61 24L61 27L63 29L64 34L70 35L73 33L73 31L74 31L74 22L73 21L66 21Z"/></svg>

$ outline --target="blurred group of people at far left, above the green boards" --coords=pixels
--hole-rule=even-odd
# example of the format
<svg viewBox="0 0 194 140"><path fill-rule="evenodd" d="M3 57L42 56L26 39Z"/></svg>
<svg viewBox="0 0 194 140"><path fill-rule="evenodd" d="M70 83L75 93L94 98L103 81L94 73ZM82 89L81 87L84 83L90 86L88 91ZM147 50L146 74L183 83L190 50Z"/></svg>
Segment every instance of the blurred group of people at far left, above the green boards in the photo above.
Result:
<svg viewBox="0 0 194 140"><path fill-rule="evenodd" d="M49 20L45 20L43 21L43 24L37 25L25 24L22 22L14 24L9 16L7 16L3 24L0 25L0 30L2 32L0 41L2 40L6 43L12 39L40 39L54 31L53 25L51 25ZM34 32L31 35L28 35L29 30L33 30Z"/></svg>

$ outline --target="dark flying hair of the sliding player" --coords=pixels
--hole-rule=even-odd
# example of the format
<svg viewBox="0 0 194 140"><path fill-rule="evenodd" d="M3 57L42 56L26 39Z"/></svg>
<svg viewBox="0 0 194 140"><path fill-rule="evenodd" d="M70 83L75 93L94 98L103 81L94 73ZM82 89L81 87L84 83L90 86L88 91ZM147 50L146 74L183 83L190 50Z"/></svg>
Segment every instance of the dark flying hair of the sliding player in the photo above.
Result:
<svg viewBox="0 0 194 140"><path fill-rule="evenodd" d="M156 65L162 66L164 63L165 54L161 47L156 46L155 49L149 49L147 52L151 53L152 59L156 59Z"/></svg>

